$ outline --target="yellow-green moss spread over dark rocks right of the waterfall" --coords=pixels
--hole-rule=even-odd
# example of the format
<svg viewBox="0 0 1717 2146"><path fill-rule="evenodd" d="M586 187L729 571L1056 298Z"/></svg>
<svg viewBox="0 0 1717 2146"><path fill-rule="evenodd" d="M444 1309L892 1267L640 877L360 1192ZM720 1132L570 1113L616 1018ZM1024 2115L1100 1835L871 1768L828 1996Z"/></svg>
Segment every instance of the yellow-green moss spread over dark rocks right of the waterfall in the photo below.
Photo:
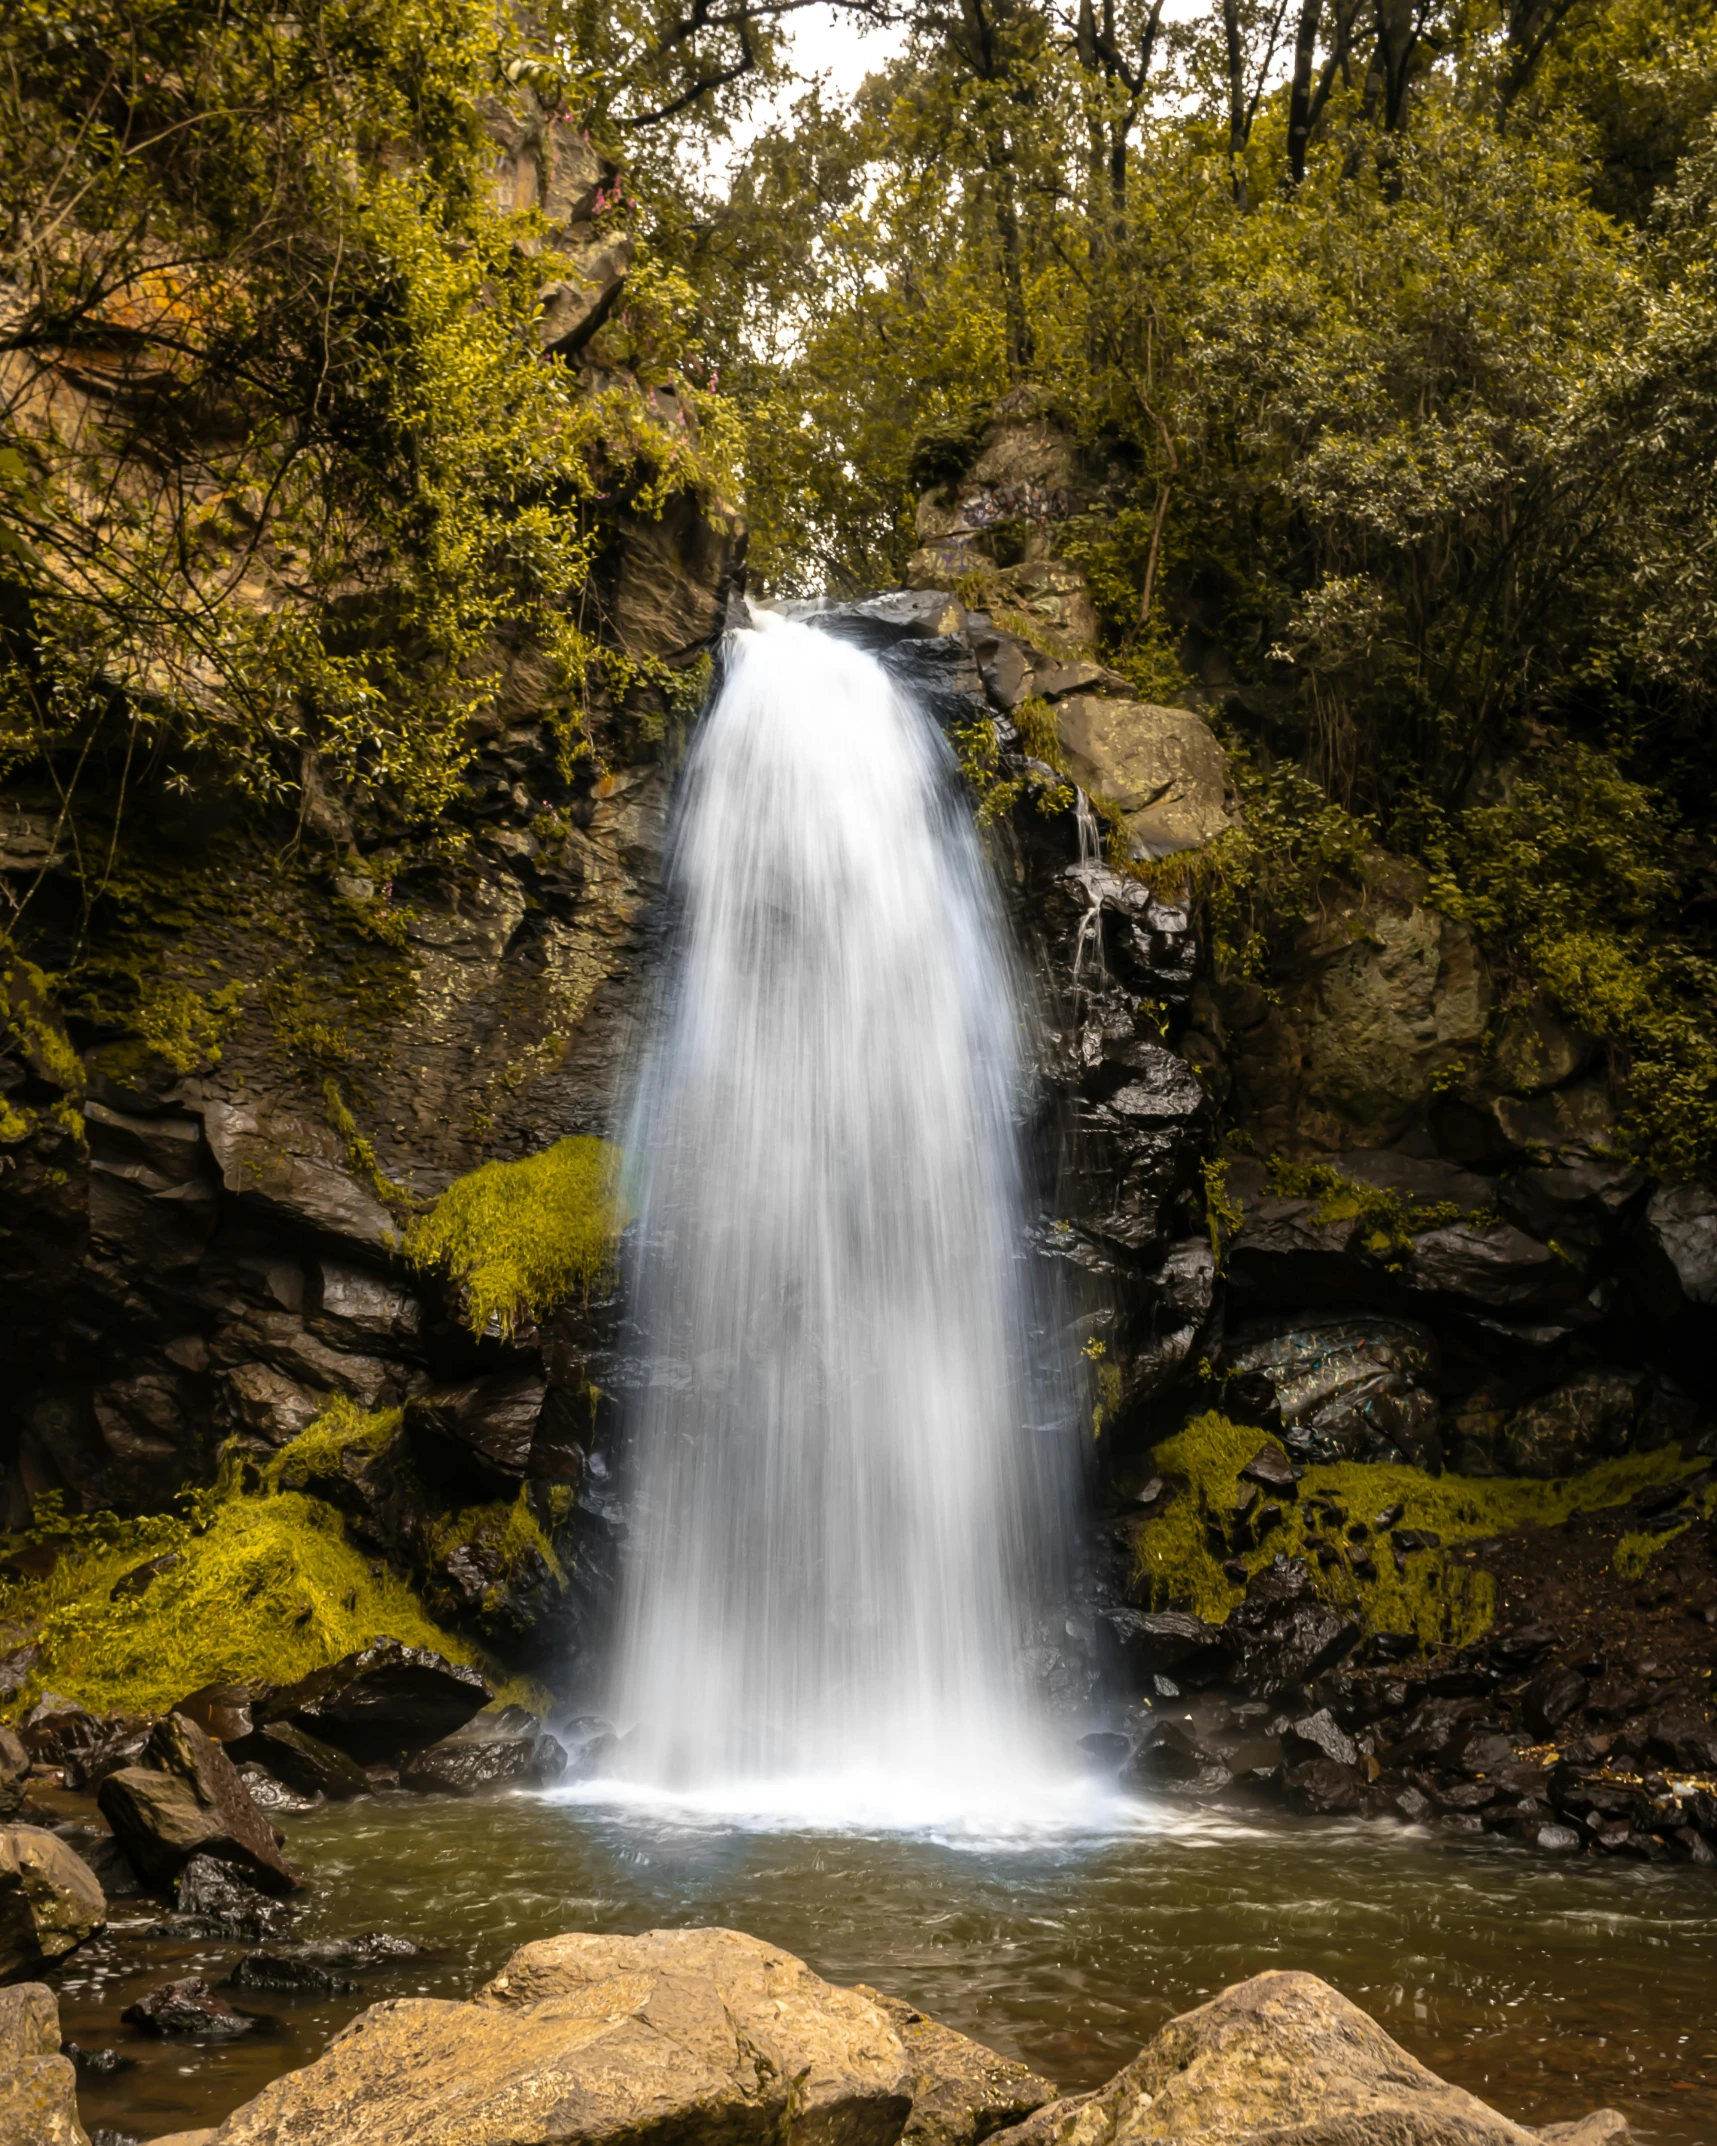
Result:
<svg viewBox="0 0 1717 2146"><path fill-rule="evenodd" d="M1264 1444L1286 1453L1279 1440L1210 1410L1157 1446L1153 1455L1157 1472L1180 1489L1168 1511L1140 1534L1138 1569L1153 1603L1187 1605L1219 1625L1245 1597L1245 1582L1223 1571L1223 1562L1238 1560L1249 1577L1277 1552L1309 1558L1311 1532L1324 1541L1339 1541L1344 1549L1335 1564L1314 1564L1320 1592L1329 1601L1352 1610L1371 1631L1412 1633L1421 1646L1466 1646L1496 1614L1496 1590L1489 1573L1464 1562L1462 1543L1532 1524L1558 1526L1571 1513L1627 1504L1648 1483L1668 1483L1702 1466L1683 1461L1674 1446L1665 1446L1657 1453L1603 1461L1582 1476L1539 1483L1507 1476L1427 1476L1419 1468L1339 1461L1305 1470L1298 1498L1277 1500L1281 1526L1262 1543L1245 1547L1236 1532L1232 1552L1217 1547L1210 1539L1213 1528L1217 1532L1232 1528L1241 1468ZM1346 1515L1339 1530L1309 1528L1309 1506L1320 1496ZM1260 1491L1258 1502L1266 1498L1268 1494ZM1406 1573L1395 1571L1386 1541L1371 1539L1365 1545L1346 1541L1352 1522L1371 1528L1376 1515L1395 1504L1402 1506L1399 1526L1429 1530L1442 1539L1438 1549L1408 1552ZM1661 1545L1663 1537L1650 1541ZM1361 1579L1350 1567L1352 1552L1361 1547L1371 1554L1376 1579Z"/></svg>

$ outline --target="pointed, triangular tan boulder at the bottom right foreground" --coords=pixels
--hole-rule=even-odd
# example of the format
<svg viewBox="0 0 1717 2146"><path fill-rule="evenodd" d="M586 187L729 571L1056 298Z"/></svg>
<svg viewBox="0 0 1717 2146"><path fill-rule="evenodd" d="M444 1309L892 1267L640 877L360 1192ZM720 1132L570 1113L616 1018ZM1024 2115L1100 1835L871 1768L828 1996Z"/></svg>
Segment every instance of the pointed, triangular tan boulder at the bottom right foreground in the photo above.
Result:
<svg viewBox="0 0 1717 2146"><path fill-rule="evenodd" d="M1532 2146L1316 1974L1253 1974L1000 2146Z"/></svg>

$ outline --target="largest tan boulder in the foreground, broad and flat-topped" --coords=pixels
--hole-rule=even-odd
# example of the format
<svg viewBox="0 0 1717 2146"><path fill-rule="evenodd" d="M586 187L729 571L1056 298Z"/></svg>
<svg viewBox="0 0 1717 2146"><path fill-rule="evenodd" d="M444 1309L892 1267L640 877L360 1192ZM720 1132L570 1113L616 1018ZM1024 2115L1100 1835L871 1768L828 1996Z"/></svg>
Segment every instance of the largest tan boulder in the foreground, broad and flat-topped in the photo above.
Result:
<svg viewBox="0 0 1717 2146"><path fill-rule="evenodd" d="M217 2146L893 2146L912 2062L889 2013L732 1929L545 1938L470 2004L373 2004Z"/></svg>

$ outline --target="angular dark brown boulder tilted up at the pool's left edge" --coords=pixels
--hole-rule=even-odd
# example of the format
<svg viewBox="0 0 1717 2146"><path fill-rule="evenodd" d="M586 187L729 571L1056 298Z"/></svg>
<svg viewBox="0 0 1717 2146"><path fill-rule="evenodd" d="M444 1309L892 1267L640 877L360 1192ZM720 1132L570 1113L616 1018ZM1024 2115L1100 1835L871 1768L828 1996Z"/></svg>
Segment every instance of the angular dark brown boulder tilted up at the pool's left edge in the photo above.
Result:
<svg viewBox="0 0 1717 2146"><path fill-rule="evenodd" d="M303 1884L238 1768L185 1715L159 1721L144 1764L109 1773L97 1803L148 1884L170 1886L191 1856L232 1863L264 1893Z"/></svg>

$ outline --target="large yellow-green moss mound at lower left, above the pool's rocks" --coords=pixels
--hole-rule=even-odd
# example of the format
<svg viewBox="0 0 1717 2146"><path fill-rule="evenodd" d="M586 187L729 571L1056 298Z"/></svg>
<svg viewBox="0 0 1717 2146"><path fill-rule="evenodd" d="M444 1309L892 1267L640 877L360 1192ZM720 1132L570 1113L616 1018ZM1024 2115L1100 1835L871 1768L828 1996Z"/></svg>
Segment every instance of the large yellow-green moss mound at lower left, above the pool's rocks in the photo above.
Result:
<svg viewBox="0 0 1717 2146"><path fill-rule="evenodd" d="M54 1573L6 1590L0 1614L39 1620L36 1685L92 1708L159 1713L197 1685L290 1682L378 1635L476 1659L401 1579L371 1569L318 1498L223 1485L189 1517L101 1515L69 1534ZM116 1579L163 1552L180 1562L112 1599Z"/></svg>

